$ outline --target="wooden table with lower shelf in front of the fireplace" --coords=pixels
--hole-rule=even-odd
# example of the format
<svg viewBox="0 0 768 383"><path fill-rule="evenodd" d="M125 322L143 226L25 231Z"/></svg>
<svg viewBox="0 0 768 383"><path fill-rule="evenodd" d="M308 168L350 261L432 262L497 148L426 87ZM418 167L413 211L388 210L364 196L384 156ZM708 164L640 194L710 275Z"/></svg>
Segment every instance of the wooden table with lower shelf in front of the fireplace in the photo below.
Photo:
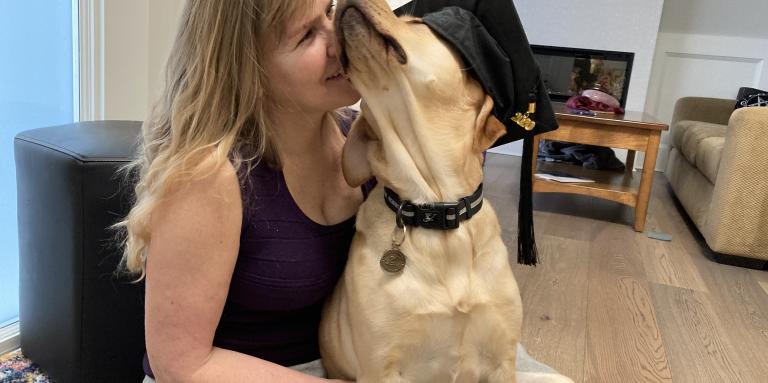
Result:
<svg viewBox="0 0 768 383"><path fill-rule="evenodd" d="M593 117L571 114L564 104L553 103L553 107L560 128L536 136L533 142L534 151L538 152L539 141L542 139L628 149L626 171L595 171L550 162L537 165L537 156L534 155L533 191L575 193L625 204L635 208L635 230L645 230L645 216L653 186L659 141L661 132L667 130L668 126L642 112L626 112L624 115L598 114ZM633 171L636 151L645 152L639 180ZM535 177L537 168L543 171L566 172L593 179L595 182L560 183L539 179Z"/></svg>

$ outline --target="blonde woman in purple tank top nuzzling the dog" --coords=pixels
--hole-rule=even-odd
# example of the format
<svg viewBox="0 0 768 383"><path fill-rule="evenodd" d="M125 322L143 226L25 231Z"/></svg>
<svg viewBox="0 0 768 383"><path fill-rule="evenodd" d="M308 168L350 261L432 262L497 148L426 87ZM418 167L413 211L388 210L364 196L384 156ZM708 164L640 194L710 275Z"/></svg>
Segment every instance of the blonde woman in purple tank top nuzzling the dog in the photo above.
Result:
<svg viewBox="0 0 768 383"><path fill-rule="evenodd" d="M331 0L187 1L118 225L146 280L145 382L324 380L320 309L371 186L341 173L333 111L359 95L332 19Z"/></svg>

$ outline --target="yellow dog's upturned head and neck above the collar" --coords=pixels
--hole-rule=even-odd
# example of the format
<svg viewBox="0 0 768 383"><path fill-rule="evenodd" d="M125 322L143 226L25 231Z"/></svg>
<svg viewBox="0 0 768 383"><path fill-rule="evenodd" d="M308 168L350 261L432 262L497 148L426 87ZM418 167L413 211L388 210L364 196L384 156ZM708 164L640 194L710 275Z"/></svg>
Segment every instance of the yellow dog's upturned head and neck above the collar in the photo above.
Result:
<svg viewBox="0 0 768 383"><path fill-rule="evenodd" d="M481 153L505 128L457 52L385 0L340 1L335 22L342 65L363 96L344 149L347 182L375 175L415 202L474 190Z"/></svg>

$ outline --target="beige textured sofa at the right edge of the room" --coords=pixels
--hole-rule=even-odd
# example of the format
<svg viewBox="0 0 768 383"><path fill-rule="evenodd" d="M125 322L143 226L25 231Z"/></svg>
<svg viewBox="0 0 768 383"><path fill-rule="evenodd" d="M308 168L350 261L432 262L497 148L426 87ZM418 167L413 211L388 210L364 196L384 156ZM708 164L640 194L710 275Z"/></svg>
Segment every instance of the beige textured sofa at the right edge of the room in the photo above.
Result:
<svg viewBox="0 0 768 383"><path fill-rule="evenodd" d="M735 104L677 101L666 176L712 250L768 261L768 108Z"/></svg>

